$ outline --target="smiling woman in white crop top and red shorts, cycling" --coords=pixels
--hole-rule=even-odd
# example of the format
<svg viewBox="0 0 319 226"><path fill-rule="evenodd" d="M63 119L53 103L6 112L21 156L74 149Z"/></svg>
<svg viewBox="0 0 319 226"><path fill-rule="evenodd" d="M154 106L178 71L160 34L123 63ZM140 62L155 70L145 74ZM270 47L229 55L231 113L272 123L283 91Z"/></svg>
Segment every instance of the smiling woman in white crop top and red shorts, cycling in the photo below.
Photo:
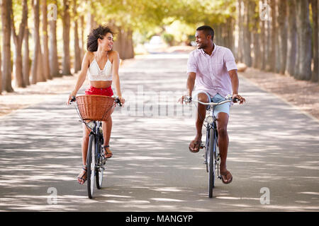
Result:
<svg viewBox="0 0 319 226"><path fill-rule="evenodd" d="M113 90L111 88L112 81L116 85L116 93L118 99L123 104L125 102L121 95L120 78L118 76L118 67L120 58L118 52L113 49L113 31L107 26L99 25L98 28L91 30L87 40L87 50L82 61L82 69L77 79L74 90L69 95L67 104L73 96L77 95L77 92L82 87L86 75L89 77L90 87L85 90L85 95L103 95L112 96ZM113 112L114 107L111 109ZM112 118L111 115L107 121L103 121L103 149L105 157L112 157L113 153L109 148L109 141L111 137ZM77 180L79 184L84 184L86 181L86 155L89 143L89 129L86 125L83 125L83 138L82 138L82 172L80 172Z"/></svg>

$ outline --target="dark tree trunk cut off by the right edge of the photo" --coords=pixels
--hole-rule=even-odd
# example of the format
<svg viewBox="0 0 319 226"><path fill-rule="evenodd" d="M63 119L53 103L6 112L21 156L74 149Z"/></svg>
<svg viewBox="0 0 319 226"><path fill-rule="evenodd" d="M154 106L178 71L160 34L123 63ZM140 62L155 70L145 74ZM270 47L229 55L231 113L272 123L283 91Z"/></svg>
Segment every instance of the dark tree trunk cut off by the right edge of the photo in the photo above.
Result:
<svg viewBox="0 0 319 226"><path fill-rule="evenodd" d="M311 8L313 11L313 74L311 81L319 81L319 69L318 69L318 0L311 0Z"/></svg>

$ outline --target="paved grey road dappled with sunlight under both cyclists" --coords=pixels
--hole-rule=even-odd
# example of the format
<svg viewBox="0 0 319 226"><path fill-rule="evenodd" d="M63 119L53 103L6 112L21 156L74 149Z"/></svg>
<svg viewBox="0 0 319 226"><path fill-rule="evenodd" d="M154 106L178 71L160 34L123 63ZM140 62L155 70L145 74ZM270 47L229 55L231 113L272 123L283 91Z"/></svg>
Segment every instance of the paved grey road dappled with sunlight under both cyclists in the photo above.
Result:
<svg viewBox="0 0 319 226"><path fill-rule="evenodd" d="M318 211L318 121L242 77L247 104L232 107L228 127L233 183L218 180L207 198L202 153L188 150L196 108L176 103L185 69L186 56L169 54L121 69L128 102L113 113L114 155L93 200L76 180L82 125L67 93L1 117L0 210Z"/></svg>

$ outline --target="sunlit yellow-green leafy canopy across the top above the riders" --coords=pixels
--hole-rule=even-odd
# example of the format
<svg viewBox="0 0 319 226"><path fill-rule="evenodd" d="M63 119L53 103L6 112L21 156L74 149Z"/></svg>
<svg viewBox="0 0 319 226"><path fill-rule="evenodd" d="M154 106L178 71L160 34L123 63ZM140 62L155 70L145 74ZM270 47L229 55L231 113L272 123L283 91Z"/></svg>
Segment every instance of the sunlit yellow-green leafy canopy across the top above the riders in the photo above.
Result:
<svg viewBox="0 0 319 226"><path fill-rule="evenodd" d="M163 38L168 43L172 43L173 37L177 42L188 40L189 35L194 35L198 25L226 23L228 17L236 16L236 0L76 0L75 15L74 0L67 1L72 19L81 15L87 19L87 13L91 12L96 23L111 23L124 30L133 30L144 35L141 40L148 40L152 35L166 32L163 33ZM28 0L29 20L33 20L31 2ZM47 0L47 5L49 4L57 5L60 20L63 0ZM13 0L17 25L21 20L21 12L21 1ZM173 32L167 31L170 26L174 28Z"/></svg>

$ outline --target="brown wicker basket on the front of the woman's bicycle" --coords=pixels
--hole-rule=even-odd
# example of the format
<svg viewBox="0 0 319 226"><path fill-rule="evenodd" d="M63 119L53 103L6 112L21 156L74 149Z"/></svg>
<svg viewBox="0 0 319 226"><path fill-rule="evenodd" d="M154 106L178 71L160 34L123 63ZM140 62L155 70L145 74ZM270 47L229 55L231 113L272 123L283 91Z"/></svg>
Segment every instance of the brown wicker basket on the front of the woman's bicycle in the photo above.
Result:
<svg viewBox="0 0 319 226"><path fill-rule="evenodd" d="M77 97L77 107L83 120L106 121L112 113L114 100L101 95L82 95Z"/></svg>

